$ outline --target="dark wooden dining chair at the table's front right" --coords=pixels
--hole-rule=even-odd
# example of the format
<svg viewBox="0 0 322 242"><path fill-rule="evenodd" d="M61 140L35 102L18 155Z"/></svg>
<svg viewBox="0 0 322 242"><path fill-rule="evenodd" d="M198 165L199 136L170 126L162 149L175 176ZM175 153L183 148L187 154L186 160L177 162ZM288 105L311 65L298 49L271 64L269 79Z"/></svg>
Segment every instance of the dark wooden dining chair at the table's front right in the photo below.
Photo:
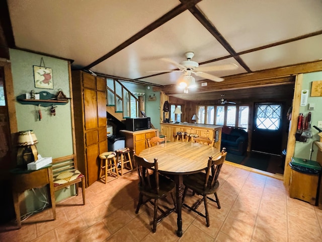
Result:
<svg viewBox="0 0 322 242"><path fill-rule="evenodd" d="M225 161L226 154L226 148L223 148L221 155L217 159L213 160L213 157L209 156L206 172L186 175L183 178L183 184L185 185L185 190L182 197L183 205L193 212L199 214L200 216L206 218L207 227L209 227L210 225L207 199L217 203L218 209L221 208L217 196L217 189L219 188L218 177L222 164ZM184 203L188 189L191 189L193 191L193 194L202 196L202 198L194 203L192 207ZM216 200L208 197L211 194L215 195ZM197 208L202 202L204 202L205 214L197 211Z"/></svg>

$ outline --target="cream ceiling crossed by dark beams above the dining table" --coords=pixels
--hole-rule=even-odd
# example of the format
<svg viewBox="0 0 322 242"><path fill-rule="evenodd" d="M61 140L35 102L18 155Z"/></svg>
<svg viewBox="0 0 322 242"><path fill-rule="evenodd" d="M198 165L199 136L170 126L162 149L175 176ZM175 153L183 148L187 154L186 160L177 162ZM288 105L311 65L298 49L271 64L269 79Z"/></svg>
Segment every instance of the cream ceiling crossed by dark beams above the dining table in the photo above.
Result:
<svg viewBox="0 0 322 242"><path fill-rule="evenodd" d="M7 2L18 48L72 59L75 69L150 84L174 84L180 73L144 77L176 69L160 58L182 62L187 51L195 53L193 61L207 62L202 66L238 66L210 72L219 77L322 58L321 0Z"/></svg>

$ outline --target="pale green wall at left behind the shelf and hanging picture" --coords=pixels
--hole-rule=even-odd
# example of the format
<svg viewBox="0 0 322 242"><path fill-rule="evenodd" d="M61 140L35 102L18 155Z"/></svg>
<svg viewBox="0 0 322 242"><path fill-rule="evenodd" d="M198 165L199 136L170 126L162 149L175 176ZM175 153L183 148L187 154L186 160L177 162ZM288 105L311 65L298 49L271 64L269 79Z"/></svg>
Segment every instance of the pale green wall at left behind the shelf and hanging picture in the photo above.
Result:
<svg viewBox="0 0 322 242"><path fill-rule="evenodd" d="M52 69L53 88L35 88L33 66L41 66L43 58L45 66ZM66 97L70 97L68 62L34 54L22 50L10 49L10 59L15 97L29 93L47 91L56 95L61 89ZM37 150L42 157L62 157L73 154L71 105L56 105L56 115L50 115L50 107L21 104L15 100L18 131L33 130L38 139ZM42 119L38 118L38 109L42 113ZM60 201L74 194L74 187L62 189L55 193L56 201ZM47 203L48 198L44 189L35 189L25 192L24 212L33 212ZM26 207L26 209L25 209ZM24 211L26 210L26 211Z"/></svg>

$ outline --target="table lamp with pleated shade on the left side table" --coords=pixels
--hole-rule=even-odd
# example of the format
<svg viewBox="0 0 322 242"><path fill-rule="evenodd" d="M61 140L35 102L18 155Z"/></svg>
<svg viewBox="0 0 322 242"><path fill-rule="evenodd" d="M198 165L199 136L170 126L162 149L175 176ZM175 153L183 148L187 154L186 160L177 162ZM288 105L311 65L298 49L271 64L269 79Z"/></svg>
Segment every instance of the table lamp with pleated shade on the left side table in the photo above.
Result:
<svg viewBox="0 0 322 242"><path fill-rule="evenodd" d="M37 137L32 130L20 131L18 136L17 165L27 168L27 164L36 161L38 151L36 145Z"/></svg>

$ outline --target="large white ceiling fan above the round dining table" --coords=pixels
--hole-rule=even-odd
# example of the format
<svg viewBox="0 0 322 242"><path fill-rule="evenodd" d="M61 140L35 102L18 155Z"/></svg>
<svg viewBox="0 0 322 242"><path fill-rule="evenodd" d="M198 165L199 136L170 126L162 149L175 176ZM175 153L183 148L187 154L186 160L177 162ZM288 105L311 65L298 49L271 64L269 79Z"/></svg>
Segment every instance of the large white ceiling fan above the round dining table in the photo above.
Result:
<svg viewBox="0 0 322 242"><path fill-rule="evenodd" d="M183 78L191 79L191 82L194 82L194 78L192 79L192 74L197 77L203 77L205 79L209 79L215 82L222 82L224 79L220 77L213 76L206 72L213 72L213 71L222 71L222 70L235 70L238 68L235 64L225 64L225 65L216 65L216 66L208 66L208 67L199 67L199 63L191 61L192 57L194 56L194 52L186 52L185 56L187 61L183 61L178 63L173 59L169 58L161 58L163 61L171 63L178 67L179 70L171 70L171 71L152 71L152 72L184 72L182 75Z"/></svg>

